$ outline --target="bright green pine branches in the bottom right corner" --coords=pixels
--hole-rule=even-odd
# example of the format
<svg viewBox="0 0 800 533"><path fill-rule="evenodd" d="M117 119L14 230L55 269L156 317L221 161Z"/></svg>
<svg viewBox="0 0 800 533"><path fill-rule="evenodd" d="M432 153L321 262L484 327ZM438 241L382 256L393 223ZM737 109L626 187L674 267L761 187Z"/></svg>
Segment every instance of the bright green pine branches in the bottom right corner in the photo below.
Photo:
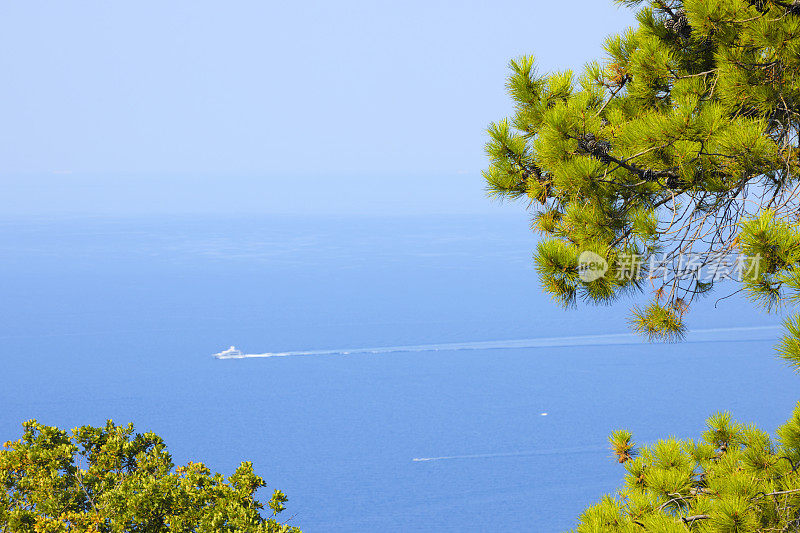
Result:
<svg viewBox="0 0 800 533"><path fill-rule="evenodd" d="M794 531L800 513L800 403L777 439L728 413L698 440L637 449L630 432L610 437L627 474L613 497L587 509L577 531ZM621 454L621 455L620 455Z"/></svg>

